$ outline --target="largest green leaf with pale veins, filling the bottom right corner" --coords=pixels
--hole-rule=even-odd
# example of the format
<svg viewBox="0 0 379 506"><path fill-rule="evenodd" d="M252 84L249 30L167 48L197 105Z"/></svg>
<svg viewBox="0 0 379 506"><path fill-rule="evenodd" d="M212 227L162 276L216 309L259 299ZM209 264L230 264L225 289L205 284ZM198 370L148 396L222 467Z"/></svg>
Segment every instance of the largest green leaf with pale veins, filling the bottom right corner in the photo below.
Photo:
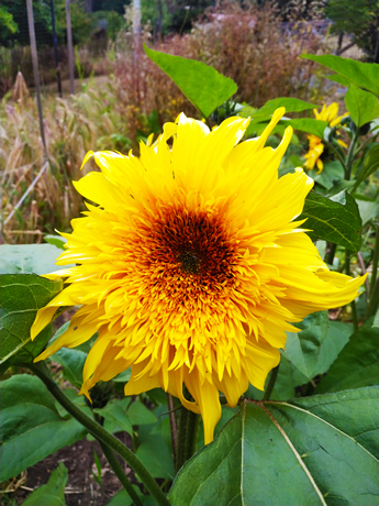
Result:
<svg viewBox="0 0 379 506"><path fill-rule="evenodd" d="M179 471L169 499L174 506L372 506L377 402L376 387L244 402Z"/></svg>

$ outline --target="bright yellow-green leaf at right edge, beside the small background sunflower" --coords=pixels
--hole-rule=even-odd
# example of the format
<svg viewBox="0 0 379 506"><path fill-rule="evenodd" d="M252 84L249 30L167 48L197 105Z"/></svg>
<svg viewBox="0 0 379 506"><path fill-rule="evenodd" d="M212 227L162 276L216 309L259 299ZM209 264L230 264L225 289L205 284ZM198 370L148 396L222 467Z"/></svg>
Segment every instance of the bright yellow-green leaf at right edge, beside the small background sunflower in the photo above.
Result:
<svg viewBox="0 0 379 506"><path fill-rule="evenodd" d="M345 103L357 128L369 123L379 116L378 99L368 91L350 86L345 95Z"/></svg>

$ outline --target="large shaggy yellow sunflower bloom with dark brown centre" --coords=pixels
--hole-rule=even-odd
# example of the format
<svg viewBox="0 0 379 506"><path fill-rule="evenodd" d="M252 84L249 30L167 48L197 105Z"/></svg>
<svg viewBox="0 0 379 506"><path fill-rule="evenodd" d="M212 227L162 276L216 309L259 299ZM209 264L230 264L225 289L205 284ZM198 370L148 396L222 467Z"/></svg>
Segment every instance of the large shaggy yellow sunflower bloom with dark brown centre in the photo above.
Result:
<svg viewBox="0 0 379 506"><path fill-rule="evenodd" d="M301 168L278 179L290 127L276 150L264 147L283 113L241 144L246 119L210 131L180 114L140 158L89 153L101 173L75 186L99 206L88 204L63 234L57 264L79 265L47 276L66 288L38 311L32 338L58 307L81 307L37 360L98 331L82 394L132 366L125 395L164 388L202 415L212 441L219 391L234 407L249 382L263 389L291 323L347 304L364 280L330 272L292 221L313 180Z"/></svg>

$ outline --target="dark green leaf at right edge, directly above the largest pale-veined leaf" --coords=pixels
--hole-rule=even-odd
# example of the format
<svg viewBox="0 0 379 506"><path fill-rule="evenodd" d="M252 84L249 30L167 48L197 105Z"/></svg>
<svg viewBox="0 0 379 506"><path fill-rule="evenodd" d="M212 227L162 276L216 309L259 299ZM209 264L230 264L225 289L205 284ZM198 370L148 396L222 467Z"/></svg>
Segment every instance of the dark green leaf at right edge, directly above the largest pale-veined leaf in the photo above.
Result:
<svg viewBox="0 0 379 506"><path fill-rule="evenodd" d="M315 392L337 392L347 388L377 385L378 329L372 326L372 318L355 332L333 363L328 373L321 380Z"/></svg>

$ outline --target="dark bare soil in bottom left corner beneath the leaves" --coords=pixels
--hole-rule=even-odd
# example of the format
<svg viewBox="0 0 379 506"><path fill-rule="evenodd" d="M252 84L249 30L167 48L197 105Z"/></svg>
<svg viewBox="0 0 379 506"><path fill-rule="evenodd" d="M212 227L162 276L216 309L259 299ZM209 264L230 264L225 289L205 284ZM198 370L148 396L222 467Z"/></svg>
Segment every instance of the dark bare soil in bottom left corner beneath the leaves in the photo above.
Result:
<svg viewBox="0 0 379 506"><path fill-rule="evenodd" d="M120 432L115 436L131 447L132 440L129 435ZM98 474L93 460L93 450L97 452L101 463L101 486L98 485L91 473L92 470L96 475ZM63 462L68 470L68 482L65 488L67 506L105 506L122 488L103 457L99 443L97 441L88 441L85 438L29 468L21 476L25 481L20 480L20 476L13 479L14 485L10 490L16 490L9 494L1 494L0 505L21 505L34 488L47 483L51 472L58 466L58 462ZM120 463L123 465L131 482L136 483L133 471L125 462L120 460ZM12 483L9 483L9 485L12 486Z"/></svg>

